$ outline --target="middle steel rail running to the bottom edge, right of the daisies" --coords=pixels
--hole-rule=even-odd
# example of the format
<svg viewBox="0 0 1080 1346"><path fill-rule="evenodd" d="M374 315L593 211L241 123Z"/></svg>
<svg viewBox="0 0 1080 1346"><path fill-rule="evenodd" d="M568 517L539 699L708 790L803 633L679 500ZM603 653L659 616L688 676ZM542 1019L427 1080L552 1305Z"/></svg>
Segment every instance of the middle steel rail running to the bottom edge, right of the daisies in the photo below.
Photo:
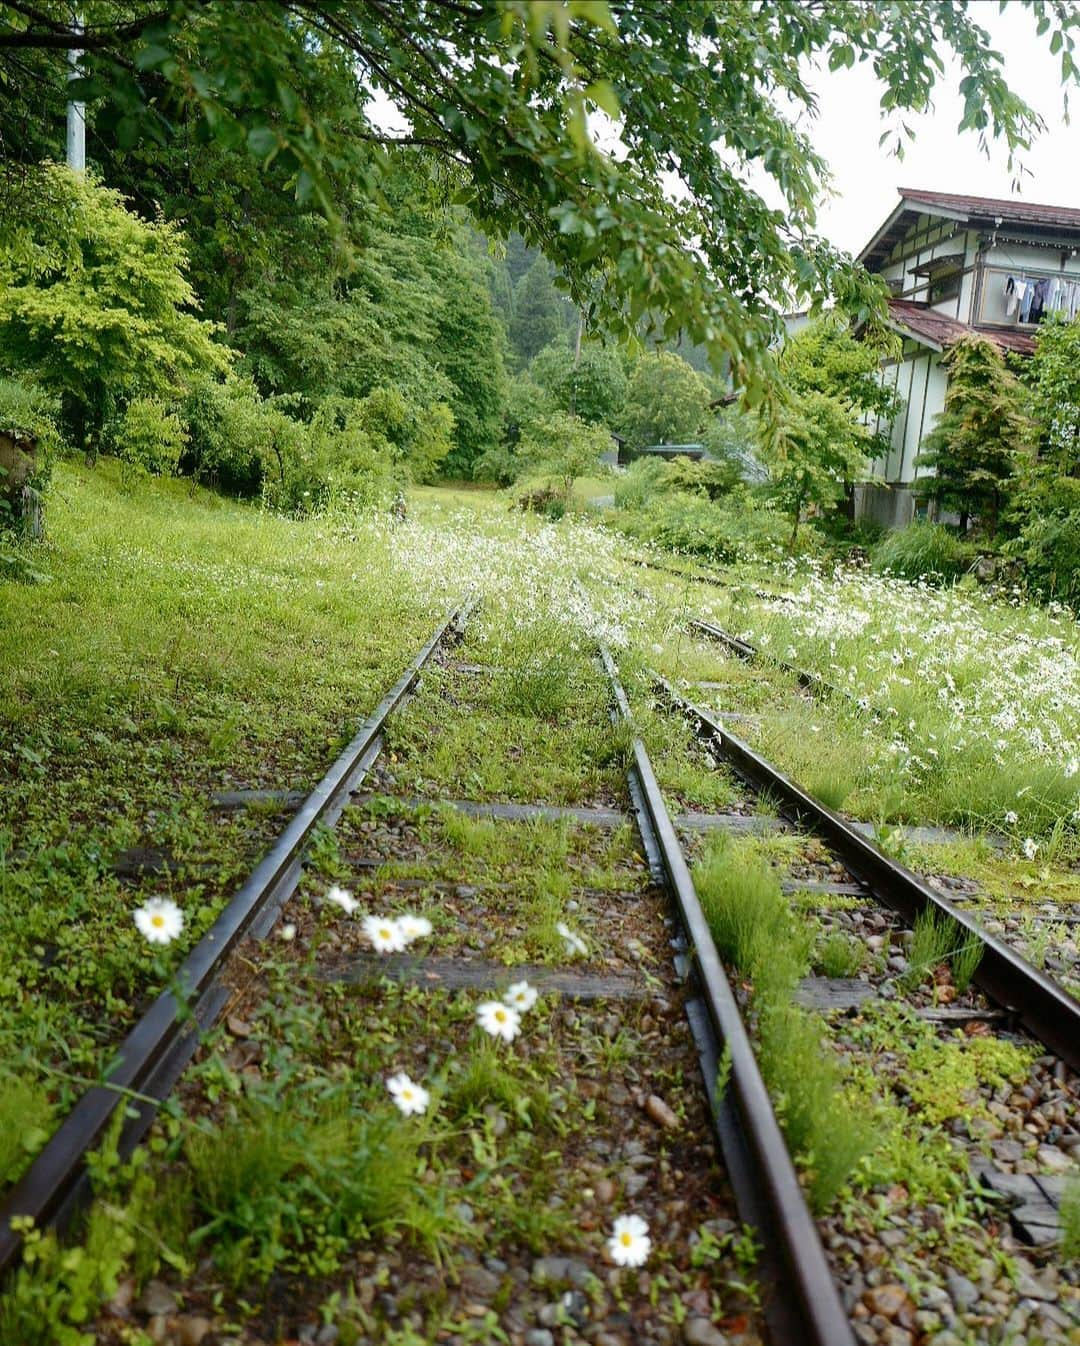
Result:
<svg viewBox="0 0 1080 1346"><path fill-rule="evenodd" d="M618 669L606 649L603 666L615 700L614 719L630 723ZM691 1018L710 1106L739 1215L762 1240L773 1294L765 1304L772 1337L782 1346L855 1346L817 1226L773 1112L750 1038L720 962L664 797L641 739L633 742L630 795L650 867L668 888L685 934L703 1012ZM689 1007L688 1007L689 1010ZM718 1086L720 1062L727 1085Z"/></svg>

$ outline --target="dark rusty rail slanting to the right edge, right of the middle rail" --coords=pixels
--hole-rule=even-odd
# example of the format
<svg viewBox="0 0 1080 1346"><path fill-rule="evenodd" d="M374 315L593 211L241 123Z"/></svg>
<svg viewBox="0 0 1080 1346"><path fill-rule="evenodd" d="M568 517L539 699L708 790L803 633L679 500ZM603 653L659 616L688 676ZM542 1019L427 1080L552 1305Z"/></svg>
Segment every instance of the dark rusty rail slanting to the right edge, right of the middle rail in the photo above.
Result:
<svg viewBox="0 0 1080 1346"><path fill-rule="evenodd" d="M653 674L664 697L696 725L700 738L758 790L768 790L781 814L813 832L866 884L870 894L897 911L909 925L926 910L949 917L983 946L974 981L991 1000L1011 1011L1023 1027L1073 1070L1080 1070L1080 1001L995 938L966 911L936 892L906 865L885 855L873 841L834 813L772 762L731 734L708 711L687 700L667 678Z"/></svg>

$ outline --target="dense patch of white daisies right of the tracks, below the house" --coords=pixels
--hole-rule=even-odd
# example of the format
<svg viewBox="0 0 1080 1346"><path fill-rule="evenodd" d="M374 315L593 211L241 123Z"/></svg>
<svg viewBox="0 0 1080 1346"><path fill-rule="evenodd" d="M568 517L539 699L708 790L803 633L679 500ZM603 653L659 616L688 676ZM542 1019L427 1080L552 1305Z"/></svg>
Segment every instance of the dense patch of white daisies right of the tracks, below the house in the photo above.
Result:
<svg viewBox="0 0 1080 1346"><path fill-rule="evenodd" d="M1064 610L839 568L790 577L782 594L702 608L877 711L891 770L918 779L975 750L1021 775L1077 777L1080 630Z"/></svg>

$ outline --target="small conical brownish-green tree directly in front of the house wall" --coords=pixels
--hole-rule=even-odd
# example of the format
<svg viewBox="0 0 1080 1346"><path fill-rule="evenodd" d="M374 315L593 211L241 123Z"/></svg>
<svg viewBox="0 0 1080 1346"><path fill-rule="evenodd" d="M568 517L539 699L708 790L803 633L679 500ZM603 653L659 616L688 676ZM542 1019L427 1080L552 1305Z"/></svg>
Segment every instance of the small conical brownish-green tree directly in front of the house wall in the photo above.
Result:
<svg viewBox="0 0 1080 1346"><path fill-rule="evenodd" d="M961 530L975 516L992 536L1030 451L1023 389L984 336L963 336L941 363L948 371L945 405L916 459L935 475L920 478L920 487L960 516Z"/></svg>

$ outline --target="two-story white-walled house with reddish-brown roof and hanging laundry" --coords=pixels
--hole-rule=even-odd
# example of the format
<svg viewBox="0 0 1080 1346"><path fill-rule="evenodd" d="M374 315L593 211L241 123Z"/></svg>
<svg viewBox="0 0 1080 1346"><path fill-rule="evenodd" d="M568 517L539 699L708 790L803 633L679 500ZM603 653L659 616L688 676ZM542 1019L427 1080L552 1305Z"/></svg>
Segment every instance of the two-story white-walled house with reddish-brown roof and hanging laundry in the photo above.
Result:
<svg viewBox="0 0 1080 1346"><path fill-rule="evenodd" d="M904 402L891 427L877 427L890 448L856 487L855 510L902 526L925 505L916 459L945 402L943 353L974 331L1030 354L1044 316L1080 316L1080 207L901 187L859 260L893 295L890 324L904 345L882 378Z"/></svg>

